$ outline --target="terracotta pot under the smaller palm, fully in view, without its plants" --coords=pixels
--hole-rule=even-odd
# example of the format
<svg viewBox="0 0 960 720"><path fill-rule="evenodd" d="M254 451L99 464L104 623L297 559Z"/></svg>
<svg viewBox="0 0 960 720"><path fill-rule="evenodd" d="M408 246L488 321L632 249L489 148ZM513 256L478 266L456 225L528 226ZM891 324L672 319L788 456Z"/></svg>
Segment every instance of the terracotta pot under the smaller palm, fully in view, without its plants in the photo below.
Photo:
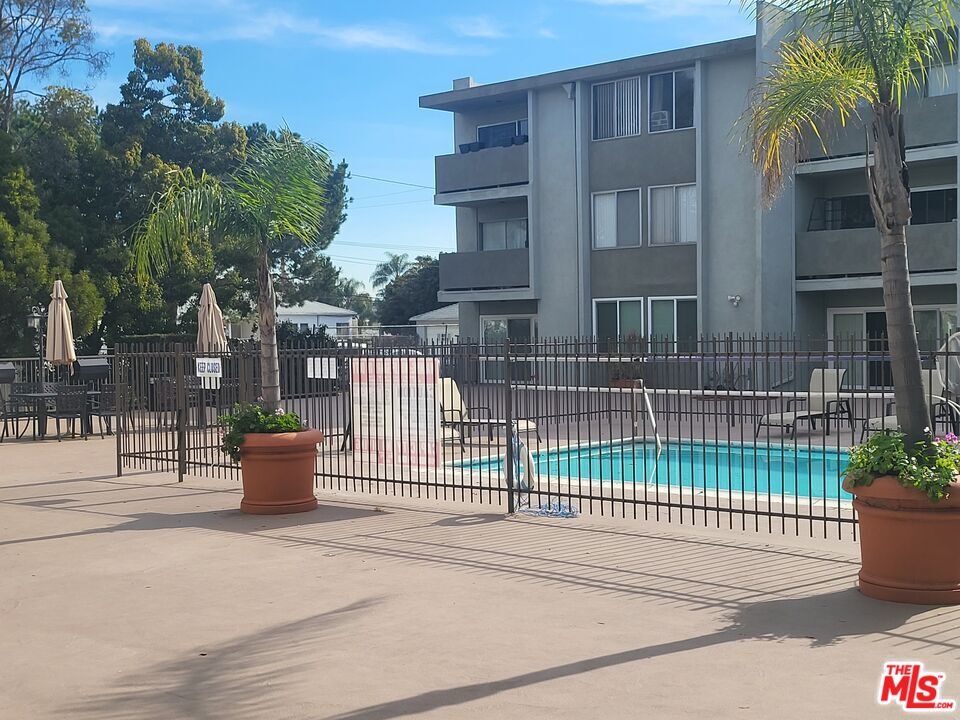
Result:
<svg viewBox="0 0 960 720"><path fill-rule="evenodd" d="M240 445L243 500L240 509L254 515L306 512L317 506L313 495L319 430L250 433Z"/></svg>

